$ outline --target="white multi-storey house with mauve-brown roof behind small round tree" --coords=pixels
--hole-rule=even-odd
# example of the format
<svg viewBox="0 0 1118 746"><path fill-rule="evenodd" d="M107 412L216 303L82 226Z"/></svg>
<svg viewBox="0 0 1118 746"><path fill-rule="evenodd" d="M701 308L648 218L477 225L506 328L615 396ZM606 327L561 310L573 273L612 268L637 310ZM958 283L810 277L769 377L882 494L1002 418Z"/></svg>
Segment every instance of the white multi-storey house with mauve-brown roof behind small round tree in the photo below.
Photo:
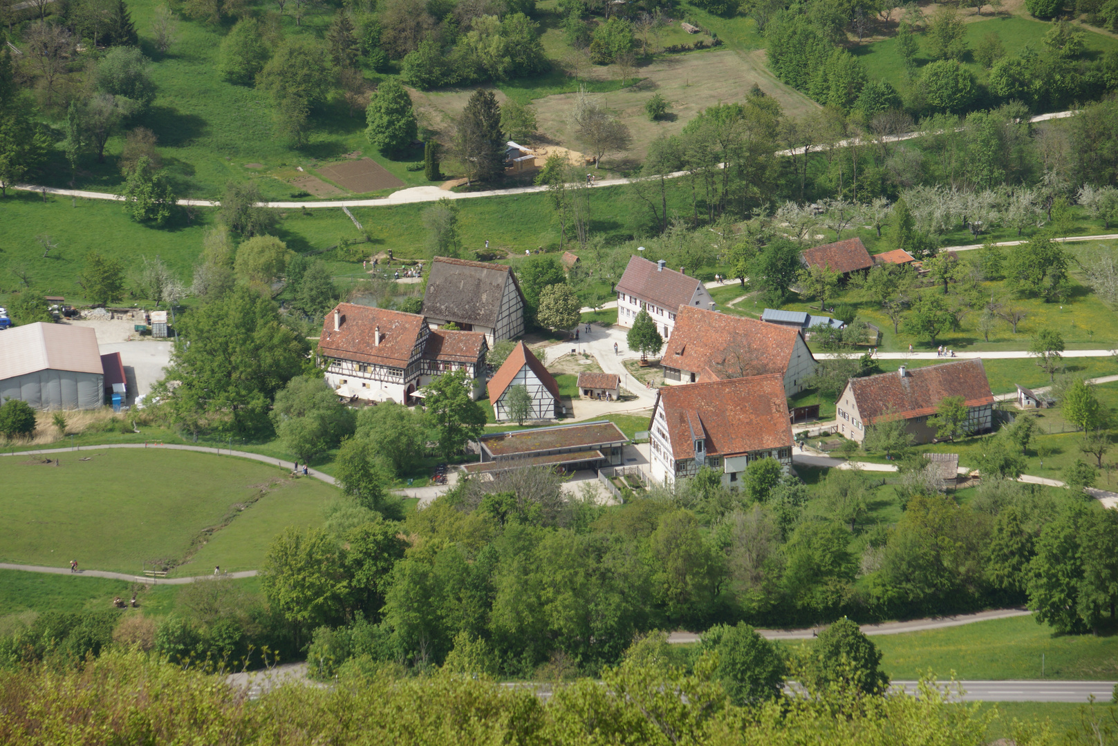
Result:
<svg viewBox="0 0 1118 746"><path fill-rule="evenodd" d="M617 290L617 324L631 327L637 314L647 310L656 329L671 338L680 308L712 308L714 302L707 288L694 277L667 269L664 260L648 261L629 257L625 274L614 286Z"/></svg>

